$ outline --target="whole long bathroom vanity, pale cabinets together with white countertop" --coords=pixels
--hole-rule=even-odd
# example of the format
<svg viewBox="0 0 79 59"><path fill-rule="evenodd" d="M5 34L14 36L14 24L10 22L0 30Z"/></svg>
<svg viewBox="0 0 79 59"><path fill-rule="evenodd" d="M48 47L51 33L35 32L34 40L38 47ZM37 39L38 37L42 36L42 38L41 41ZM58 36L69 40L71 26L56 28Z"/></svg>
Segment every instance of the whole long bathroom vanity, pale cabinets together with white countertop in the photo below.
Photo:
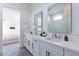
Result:
<svg viewBox="0 0 79 59"><path fill-rule="evenodd" d="M31 40L28 39L30 44L27 40L28 43L25 44L25 47L34 56L79 56L79 43L74 40L66 42L31 34L29 34L29 38L31 38Z"/></svg>

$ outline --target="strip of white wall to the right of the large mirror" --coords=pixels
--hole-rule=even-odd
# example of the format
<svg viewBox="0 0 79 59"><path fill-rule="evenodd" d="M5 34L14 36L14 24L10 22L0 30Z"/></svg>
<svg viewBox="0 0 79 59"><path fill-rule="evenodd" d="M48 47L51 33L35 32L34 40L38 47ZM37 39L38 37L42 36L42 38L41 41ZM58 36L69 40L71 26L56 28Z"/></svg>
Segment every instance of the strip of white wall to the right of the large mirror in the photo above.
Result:
<svg viewBox="0 0 79 59"><path fill-rule="evenodd" d="M79 35L79 3L72 4L72 34Z"/></svg>

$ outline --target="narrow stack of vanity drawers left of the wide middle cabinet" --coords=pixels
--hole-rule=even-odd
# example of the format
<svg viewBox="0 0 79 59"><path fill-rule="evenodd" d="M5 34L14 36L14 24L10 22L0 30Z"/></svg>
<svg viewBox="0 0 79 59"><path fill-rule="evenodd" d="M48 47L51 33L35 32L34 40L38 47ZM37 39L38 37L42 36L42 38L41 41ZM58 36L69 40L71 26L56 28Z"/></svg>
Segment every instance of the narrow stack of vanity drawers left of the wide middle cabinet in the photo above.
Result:
<svg viewBox="0 0 79 59"><path fill-rule="evenodd" d="M35 38L33 38L32 41L32 54L34 56L39 56L39 40Z"/></svg>

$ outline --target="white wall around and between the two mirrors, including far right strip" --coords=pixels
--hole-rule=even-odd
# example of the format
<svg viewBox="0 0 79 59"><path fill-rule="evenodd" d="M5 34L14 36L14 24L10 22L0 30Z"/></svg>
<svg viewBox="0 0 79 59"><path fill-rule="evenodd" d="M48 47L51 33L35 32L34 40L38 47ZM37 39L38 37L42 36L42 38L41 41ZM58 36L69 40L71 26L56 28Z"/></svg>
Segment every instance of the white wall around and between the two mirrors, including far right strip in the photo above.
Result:
<svg viewBox="0 0 79 59"><path fill-rule="evenodd" d="M53 3L52 3L53 4ZM31 29L33 29L34 17L33 15L38 13L39 11L43 12L43 30L47 31L47 19L48 19L48 7L52 4L48 3L39 3L32 5L31 12ZM72 4L72 34L79 35L79 3ZM33 31L33 30L31 30Z"/></svg>

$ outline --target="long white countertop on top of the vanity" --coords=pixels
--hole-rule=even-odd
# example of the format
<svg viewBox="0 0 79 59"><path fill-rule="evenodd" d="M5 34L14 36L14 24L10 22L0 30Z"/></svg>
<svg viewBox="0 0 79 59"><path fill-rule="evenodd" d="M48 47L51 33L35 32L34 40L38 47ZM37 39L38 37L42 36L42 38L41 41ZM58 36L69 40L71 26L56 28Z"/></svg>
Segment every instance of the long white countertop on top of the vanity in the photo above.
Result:
<svg viewBox="0 0 79 59"><path fill-rule="evenodd" d="M31 35L31 36L38 39L38 40L42 40L42 41L45 41L45 42L48 42L51 44L56 44L58 46L66 48L66 49L71 49L71 50L79 52L79 42L78 41L70 40L70 41L66 42L66 41L60 40L60 39L48 40L48 39L45 39L46 37L41 37L38 35Z"/></svg>

